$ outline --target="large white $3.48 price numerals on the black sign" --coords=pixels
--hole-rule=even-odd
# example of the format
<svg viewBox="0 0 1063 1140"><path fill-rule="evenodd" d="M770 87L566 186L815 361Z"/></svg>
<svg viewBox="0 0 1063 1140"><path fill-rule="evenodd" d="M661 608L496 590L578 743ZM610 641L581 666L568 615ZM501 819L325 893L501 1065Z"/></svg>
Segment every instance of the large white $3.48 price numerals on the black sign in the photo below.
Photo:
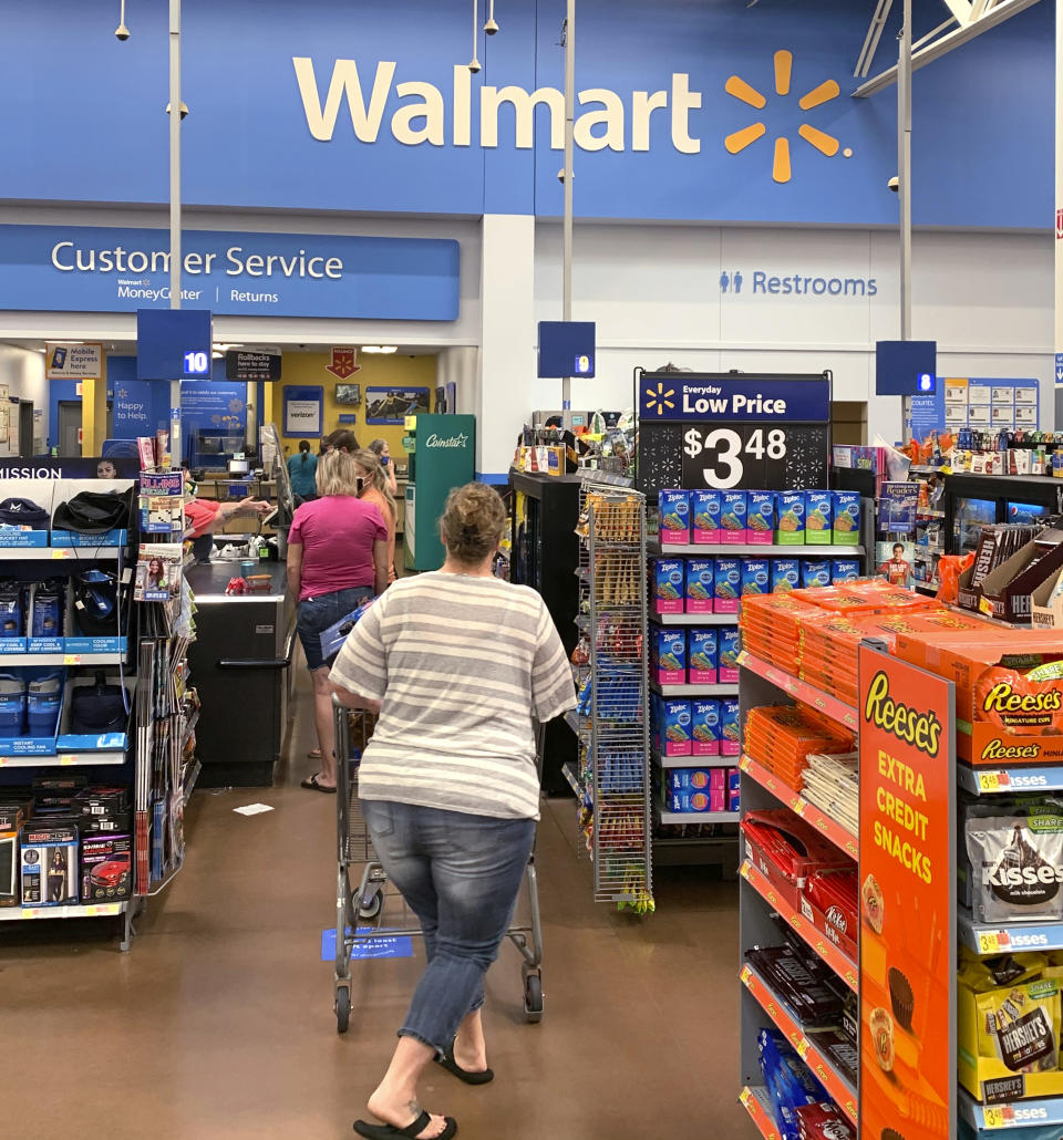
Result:
<svg viewBox="0 0 1063 1140"><path fill-rule="evenodd" d="M785 427L691 426L683 434L683 486L782 490L788 442Z"/></svg>

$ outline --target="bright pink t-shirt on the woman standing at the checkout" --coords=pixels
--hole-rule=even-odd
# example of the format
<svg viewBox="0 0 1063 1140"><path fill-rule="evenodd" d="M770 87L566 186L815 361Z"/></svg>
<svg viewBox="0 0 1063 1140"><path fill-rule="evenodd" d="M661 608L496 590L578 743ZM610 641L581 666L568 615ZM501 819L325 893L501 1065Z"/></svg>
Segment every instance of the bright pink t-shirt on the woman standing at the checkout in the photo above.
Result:
<svg viewBox="0 0 1063 1140"><path fill-rule="evenodd" d="M354 495L330 495L295 511L289 543L302 544L299 601L340 589L376 585L373 543L388 540L388 528L372 503Z"/></svg>

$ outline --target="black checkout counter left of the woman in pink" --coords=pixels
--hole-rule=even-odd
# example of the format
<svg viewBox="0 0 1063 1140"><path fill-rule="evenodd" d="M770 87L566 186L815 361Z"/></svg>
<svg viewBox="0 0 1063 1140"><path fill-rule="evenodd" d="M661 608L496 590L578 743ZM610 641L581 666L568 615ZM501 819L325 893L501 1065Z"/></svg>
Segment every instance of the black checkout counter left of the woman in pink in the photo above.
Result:
<svg viewBox="0 0 1063 1140"><path fill-rule="evenodd" d="M292 715L295 604L283 562L259 562L261 593L227 595L240 561L218 557L185 568L196 600L196 640L188 650L200 693L200 785L266 788L274 781Z"/></svg>

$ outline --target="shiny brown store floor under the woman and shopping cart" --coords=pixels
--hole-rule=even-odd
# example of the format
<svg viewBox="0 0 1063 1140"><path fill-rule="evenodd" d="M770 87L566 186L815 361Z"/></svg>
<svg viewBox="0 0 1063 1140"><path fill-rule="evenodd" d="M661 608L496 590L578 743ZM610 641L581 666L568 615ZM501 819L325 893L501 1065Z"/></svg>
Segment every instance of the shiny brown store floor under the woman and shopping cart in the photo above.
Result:
<svg viewBox="0 0 1063 1140"><path fill-rule="evenodd" d="M351 1028L336 1034L320 961L335 800L299 788L308 709L307 690L277 787L195 793L186 868L151 901L130 953L106 921L0 925L5 1134L352 1135L420 966L356 963ZM233 813L254 801L274 811ZM506 945L488 978L495 1083L433 1072L423 1102L480 1140L752 1138L736 1100L737 887L672 870L650 919L595 906L574 815L552 801L539 829L542 1024L525 1024Z"/></svg>

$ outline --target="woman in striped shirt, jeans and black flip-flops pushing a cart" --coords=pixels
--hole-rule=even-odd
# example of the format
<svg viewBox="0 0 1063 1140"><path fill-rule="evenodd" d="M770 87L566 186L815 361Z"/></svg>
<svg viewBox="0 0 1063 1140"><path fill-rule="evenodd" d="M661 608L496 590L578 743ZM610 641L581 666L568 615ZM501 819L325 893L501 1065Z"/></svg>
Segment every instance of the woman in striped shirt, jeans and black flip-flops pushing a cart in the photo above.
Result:
<svg viewBox="0 0 1063 1140"><path fill-rule="evenodd" d="M370 1097L370 1140L448 1140L417 1081L432 1060L486 1084L480 1009L532 853L539 782L534 722L576 705L571 669L543 600L492 576L505 508L482 483L453 490L443 569L397 581L340 650L344 703L379 710L358 774L388 878L416 913L428 967L391 1065Z"/></svg>

